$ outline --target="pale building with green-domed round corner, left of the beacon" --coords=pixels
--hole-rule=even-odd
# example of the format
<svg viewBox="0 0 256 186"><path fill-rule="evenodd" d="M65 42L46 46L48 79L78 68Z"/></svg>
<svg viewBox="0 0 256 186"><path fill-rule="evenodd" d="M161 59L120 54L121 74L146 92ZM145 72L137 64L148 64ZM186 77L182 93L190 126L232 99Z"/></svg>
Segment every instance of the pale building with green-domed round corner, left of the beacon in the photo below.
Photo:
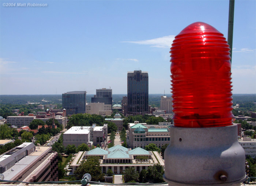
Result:
<svg viewBox="0 0 256 186"><path fill-rule="evenodd" d="M170 143L170 126L164 125L149 125L146 123L129 123L127 134L127 146L135 149L136 147L143 148L154 143L161 148L166 143Z"/></svg>

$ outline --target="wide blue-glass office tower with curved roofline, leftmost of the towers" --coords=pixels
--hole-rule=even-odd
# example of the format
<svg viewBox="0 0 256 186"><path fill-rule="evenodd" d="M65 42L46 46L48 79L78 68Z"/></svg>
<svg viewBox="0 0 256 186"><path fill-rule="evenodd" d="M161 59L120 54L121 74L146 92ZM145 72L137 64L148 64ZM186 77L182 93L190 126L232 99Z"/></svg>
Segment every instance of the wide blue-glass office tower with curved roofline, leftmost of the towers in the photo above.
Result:
<svg viewBox="0 0 256 186"><path fill-rule="evenodd" d="M67 115L86 112L86 91L72 91L62 94L62 107Z"/></svg>

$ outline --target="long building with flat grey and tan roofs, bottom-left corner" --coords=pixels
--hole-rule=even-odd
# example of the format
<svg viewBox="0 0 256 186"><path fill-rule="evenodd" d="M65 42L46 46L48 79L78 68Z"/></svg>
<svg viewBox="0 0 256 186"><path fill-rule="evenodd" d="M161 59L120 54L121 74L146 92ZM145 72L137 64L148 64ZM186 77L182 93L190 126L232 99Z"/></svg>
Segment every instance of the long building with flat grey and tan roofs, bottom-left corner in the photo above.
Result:
<svg viewBox="0 0 256 186"><path fill-rule="evenodd" d="M5 180L58 181L58 153L52 147L23 143L0 155L0 173Z"/></svg>

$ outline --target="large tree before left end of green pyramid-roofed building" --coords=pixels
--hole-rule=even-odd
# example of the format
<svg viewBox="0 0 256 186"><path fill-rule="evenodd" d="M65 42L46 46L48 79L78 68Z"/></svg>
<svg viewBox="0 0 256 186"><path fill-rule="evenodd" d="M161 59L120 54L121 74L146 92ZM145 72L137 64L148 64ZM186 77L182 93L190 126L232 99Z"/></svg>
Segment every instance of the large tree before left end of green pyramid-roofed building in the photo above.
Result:
<svg viewBox="0 0 256 186"><path fill-rule="evenodd" d="M99 166L99 157L90 157L86 161L82 161L81 165L75 171L75 174L79 179L82 179L85 173L91 175L91 181L103 180L103 174L101 173L101 167Z"/></svg>

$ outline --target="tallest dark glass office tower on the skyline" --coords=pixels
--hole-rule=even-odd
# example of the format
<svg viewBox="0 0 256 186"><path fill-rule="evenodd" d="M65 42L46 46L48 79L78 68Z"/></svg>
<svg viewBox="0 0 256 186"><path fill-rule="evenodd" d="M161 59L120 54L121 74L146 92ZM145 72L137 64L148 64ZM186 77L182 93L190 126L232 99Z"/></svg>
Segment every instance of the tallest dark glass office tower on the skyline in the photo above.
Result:
<svg viewBox="0 0 256 186"><path fill-rule="evenodd" d="M148 73L135 70L127 73L129 115L148 114Z"/></svg>

